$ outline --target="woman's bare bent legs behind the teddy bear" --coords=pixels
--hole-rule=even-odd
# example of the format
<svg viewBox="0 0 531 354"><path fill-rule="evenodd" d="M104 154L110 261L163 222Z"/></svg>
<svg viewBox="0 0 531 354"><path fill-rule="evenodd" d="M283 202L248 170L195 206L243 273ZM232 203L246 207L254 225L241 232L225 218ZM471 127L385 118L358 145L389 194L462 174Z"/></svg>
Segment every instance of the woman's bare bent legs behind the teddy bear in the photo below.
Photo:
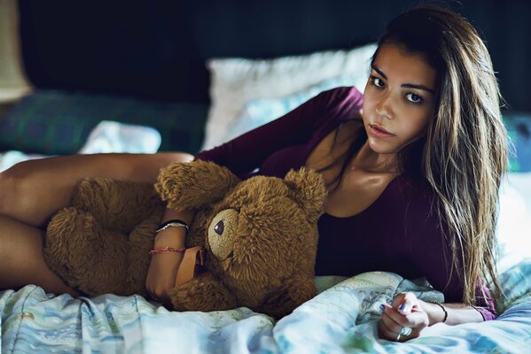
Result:
<svg viewBox="0 0 531 354"><path fill-rule="evenodd" d="M26 161L0 173L0 289L36 284L77 296L43 259L43 227L65 207L84 177L156 181L161 167L191 161L185 153L98 154Z"/></svg>

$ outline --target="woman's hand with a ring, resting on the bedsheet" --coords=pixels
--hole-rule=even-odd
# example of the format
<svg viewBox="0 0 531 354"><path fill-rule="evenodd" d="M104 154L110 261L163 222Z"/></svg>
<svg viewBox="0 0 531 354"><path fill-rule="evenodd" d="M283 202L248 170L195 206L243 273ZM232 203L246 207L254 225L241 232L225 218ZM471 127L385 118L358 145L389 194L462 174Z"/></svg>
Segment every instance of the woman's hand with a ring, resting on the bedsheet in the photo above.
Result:
<svg viewBox="0 0 531 354"><path fill-rule="evenodd" d="M379 337L387 341L405 342L417 338L429 325L428 315L413 293L400 293L394 296L391 306L382 304L382 307L378 332Z"/></svg>

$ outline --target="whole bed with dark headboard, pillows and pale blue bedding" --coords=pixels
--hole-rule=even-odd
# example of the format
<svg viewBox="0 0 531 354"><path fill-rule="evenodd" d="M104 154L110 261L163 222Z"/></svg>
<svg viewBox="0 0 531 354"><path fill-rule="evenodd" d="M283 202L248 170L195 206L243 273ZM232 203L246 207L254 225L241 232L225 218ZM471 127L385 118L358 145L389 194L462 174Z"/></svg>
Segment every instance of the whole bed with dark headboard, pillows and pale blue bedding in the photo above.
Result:
<svg viewBox="0 0 531 354"><path fill-rule="evenodd" d="M19 82L29 93L0 111L0 170L72 153L195 153L325 89L363 89L382 26L416 2L146 1L127 10L103 2L8 3L20 16L26 79ZM507 59L529 45L516 35L509 50L496 44L498 32L517 30L509 18L531 9L470 3L457 10L491 41L511 104L504 122L514 154L497 229L505 296L496 320L438 324L405 343L380 340L379 304L397 292L443 301L424 279L383 272L316 277L319 294L277 321L247 308L169 312L141 296L72 298L27 285L0 291L2 352L531 352L531 100L510 84L531 77L527 67L511 76ZM496 33L488 26L494 18L506 25Z"/></svg>

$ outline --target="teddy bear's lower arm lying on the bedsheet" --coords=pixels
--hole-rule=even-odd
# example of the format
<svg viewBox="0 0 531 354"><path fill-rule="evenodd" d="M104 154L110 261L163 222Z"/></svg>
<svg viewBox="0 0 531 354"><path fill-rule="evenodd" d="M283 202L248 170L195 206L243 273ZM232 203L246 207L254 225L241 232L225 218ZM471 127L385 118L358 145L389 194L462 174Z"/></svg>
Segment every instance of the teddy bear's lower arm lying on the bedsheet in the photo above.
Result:
<svg viewBox="0 0 531 354"><path fill-rule="evenodd" d="M236 297L220 281L207 274L170 290L176 311L222 311L237 307Z"/></svg>

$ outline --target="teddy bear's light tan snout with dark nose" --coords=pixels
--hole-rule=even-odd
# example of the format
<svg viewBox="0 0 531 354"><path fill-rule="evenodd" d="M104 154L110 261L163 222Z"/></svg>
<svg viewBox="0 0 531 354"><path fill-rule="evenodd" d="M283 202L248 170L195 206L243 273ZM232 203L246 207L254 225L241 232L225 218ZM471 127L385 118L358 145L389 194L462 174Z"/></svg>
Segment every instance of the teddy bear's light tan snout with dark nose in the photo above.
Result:
<svg viewBox="0 0 531 354"><path fill-rule="evenodd" d="M238 211L226 209L218 212L208 227L208 244L219 261L232 255L234 236L238 227Z"/></svg>

